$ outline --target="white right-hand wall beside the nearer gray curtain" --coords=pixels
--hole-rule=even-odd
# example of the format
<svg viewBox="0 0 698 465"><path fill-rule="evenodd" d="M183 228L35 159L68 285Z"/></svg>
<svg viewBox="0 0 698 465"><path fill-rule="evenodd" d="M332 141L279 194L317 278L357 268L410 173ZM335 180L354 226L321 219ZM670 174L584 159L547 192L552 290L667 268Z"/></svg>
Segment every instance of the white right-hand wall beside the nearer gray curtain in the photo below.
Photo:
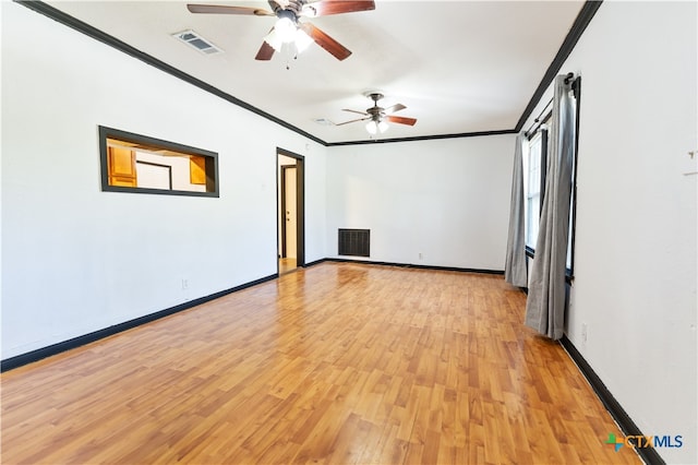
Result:
<svg viewBox="0 0 698 465"><path fill-rule="evenodd" d="M567 336L645 434L683 436L670 463L698 463L696 7L606 1L561 69L582 76Z"/></svg>

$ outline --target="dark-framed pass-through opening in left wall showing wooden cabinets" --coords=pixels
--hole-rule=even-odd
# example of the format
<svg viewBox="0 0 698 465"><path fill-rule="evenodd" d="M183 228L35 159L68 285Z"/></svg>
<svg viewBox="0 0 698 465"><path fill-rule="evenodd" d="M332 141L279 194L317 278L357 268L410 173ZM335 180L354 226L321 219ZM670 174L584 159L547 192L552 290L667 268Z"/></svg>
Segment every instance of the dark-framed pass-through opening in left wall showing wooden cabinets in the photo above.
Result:
<svg viewBox="0 0 698 465"><path fill-rule="evenodd" d="M103 190L218 196L216 153L104 127L99 132Z"/></svg>

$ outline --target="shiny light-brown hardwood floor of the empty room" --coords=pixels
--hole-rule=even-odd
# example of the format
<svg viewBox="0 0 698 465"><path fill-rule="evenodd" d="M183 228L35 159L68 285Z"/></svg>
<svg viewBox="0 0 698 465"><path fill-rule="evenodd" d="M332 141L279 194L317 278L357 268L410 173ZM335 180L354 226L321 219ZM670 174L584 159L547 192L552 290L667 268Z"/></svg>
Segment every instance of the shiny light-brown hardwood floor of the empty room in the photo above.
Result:
<svg viewBox="0 0 698 465"><path fill-rule="evenodd" d="M3 373L2 463L639 463L524 308L502 276L300 269Z"/></svg>

